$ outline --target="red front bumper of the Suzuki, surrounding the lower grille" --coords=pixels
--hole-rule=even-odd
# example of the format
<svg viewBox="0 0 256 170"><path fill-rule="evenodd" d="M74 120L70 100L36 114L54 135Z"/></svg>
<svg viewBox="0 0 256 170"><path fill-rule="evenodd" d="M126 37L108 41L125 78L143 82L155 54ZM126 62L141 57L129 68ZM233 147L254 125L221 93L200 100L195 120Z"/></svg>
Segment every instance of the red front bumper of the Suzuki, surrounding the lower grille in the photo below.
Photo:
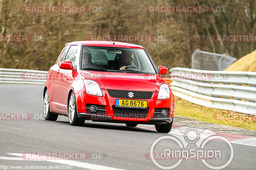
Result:
<svg viewBox="0 0 256 170"><path fill-rule="evenodd" d="M157 100L158 92L153 92L148 102L148 114L143 118L135 117L117 117L113 113L113 106L115 106L115 100L117 98L110 97L106 89L101 89L103 96L93 96L85 92L75 92L77 101L77 113L80 119L92 120L97 122L116 122L116 123L139 123L139 124L162 124L172 122L174 112L174 96L169 99ZM130 99L131 100L131 99ZM138 100L138 99L134 99ZM144 100L144 99L140 99ZM100 105L103 107L104 112L91 113L87 104ZM166 116L157 115L156 108L169 108L169 114Z"/></svg>

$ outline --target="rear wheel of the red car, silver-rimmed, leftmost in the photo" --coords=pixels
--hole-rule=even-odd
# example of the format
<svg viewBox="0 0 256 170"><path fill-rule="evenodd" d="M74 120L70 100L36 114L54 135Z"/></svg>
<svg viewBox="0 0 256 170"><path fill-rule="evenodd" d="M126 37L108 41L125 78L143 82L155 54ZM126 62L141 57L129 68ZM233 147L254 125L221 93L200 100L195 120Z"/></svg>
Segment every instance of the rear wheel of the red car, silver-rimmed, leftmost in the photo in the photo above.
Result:
<svg viewBox="0 0 256 170"><path fill-rule="evenodd" d="M47 121L56 121L58 119L57 114L50 112L49 93L48 90L44 92L44 119Z"/></svg>

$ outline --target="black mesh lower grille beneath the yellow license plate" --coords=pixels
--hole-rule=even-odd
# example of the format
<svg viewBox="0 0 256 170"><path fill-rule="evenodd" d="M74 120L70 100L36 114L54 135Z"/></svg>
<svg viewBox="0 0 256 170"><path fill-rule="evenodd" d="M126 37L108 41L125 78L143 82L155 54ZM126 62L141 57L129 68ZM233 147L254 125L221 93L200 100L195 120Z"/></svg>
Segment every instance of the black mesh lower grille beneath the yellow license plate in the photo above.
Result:
<svg viewBox="0 0 256 170"><path fill-rule="evenodd" d="M115 117L146 118L148 115L148 108L138 109L112 106L112 109Z"/></svg>

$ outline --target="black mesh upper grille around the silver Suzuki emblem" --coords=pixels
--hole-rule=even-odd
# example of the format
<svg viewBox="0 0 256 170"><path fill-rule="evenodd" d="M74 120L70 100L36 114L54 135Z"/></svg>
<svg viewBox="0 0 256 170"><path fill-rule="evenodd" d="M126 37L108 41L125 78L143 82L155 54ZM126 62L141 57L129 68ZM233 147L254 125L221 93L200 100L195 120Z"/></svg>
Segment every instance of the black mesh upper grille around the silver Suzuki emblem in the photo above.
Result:
<svg viewBox="0 0 256 170"><path fill-rule="evenodd" d="M132 92L133 97L129 97L128 93ZM110 97L123 99L150 99L153 92L129 91L129 90L108 90Z"/></svg>

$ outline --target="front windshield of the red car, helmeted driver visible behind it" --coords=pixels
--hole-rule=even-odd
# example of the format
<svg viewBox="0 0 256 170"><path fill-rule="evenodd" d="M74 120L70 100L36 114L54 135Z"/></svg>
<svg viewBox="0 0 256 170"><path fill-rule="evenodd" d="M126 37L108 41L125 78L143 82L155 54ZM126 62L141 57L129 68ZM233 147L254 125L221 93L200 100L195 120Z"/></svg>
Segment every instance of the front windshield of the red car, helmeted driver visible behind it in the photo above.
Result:
<svg viewBox="0 0 256 170"><path fill-rule="evenodd" d="M157 74L144 49L83 46L83 70ZM123 67L123 69L121 69Z"/></svg>

